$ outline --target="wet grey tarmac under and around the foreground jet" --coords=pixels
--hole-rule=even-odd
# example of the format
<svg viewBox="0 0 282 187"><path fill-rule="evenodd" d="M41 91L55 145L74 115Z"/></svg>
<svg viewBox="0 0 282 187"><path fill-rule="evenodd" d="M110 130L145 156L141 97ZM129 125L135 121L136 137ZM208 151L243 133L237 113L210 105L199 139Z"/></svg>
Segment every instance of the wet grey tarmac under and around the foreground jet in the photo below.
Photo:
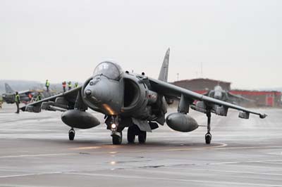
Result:
<svg viewBox="0 0 282 187"><path fill-rule="evenodd" d="M212 116L212 143L204 143L207 117L190 133L166 125L147 134L145 145L111 144L105 124L76 129L75 141L61 112L0 109L0 186L282 186L282 110L262 120ZM173 112L176 109L170 109ZM103 115L93 112L103 119ZM103 121L102 121L103 122Z"/></svg>

